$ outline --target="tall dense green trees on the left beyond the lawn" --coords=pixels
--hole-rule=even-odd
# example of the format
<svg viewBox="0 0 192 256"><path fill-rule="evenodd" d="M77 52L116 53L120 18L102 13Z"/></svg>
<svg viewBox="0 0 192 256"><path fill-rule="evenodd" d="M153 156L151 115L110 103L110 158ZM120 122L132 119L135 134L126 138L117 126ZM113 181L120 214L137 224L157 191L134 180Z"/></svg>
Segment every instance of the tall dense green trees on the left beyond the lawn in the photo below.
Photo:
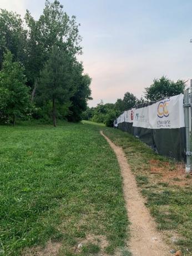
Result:
<svg viewBox="0 0 192 256"><path fill-rule="evenodd" d="M0 12L0 122L57 118L78 122L92 99L76 17L59 1L46 0L38 20L27 10Z"/></svg>

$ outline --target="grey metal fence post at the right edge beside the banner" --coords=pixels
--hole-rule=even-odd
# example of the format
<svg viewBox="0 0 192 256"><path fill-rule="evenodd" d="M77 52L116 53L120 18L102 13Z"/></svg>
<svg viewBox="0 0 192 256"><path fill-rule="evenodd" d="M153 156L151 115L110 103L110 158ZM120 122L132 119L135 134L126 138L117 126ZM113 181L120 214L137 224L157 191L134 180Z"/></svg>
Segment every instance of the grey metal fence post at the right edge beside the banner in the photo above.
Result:
<svg viewBox="0 0 192 256"><path fill-rule="evenodd" d="M186 150L186 165L185 172L191 170L191 152L190 152L190 130L189 130L189 89L184 91L184 118L185 118L185 150Z"/></svg>

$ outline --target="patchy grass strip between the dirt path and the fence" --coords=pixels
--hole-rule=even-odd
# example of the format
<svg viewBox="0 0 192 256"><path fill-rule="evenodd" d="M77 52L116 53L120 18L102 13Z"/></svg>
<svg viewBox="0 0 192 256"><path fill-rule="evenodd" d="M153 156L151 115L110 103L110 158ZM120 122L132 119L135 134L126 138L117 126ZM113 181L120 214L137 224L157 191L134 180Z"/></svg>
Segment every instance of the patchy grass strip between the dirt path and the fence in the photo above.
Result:
<svg viewBox="0 0 192 256"><path fill-rule="evenodd" d="M192 255L191 175L185 175L179 163L156 154L131 134L110 128L104 133L123 147L146 206L167 242L184 255Z"/></svg>

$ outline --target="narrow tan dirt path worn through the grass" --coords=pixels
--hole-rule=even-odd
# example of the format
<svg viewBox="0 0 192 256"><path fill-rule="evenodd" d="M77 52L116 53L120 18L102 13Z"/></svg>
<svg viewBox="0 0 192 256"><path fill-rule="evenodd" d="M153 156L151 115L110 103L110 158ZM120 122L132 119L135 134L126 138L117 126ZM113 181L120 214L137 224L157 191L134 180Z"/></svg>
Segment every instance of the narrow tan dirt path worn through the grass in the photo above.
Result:
<svg viewBox="0 0 192 256"><path fill-rule="evenodd" d="M163 242L160 233L156 231L156 223L145 207L144 199L138 191L134 175L129 168L123 149L115 145L102 131L100 131L100 134L108 141L117 155L122 172L124 198L131 222L129 247L133 256L170 255L168 246Z"/></svg>

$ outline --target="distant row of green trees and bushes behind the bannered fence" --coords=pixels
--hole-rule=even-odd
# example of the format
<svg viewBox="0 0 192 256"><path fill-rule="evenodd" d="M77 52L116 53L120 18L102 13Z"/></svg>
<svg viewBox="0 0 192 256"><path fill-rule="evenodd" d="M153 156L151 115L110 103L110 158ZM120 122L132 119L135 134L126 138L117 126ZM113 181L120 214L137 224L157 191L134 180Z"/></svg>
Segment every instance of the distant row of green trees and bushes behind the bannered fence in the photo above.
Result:
<svg viewBox="0 0 192 256"><path fill-rule="evenodd" d="M105 123L112 127L114 120L124 111L137 106L140 103L157 101L158 99L171 97L184 92L186 81L171 81L163 76L160 79L154 79L153 83L145 88L144 97L138 99L133 93L126 92L123 99L117 99L115 103L104 104L101 101L96 107L87 108L83 112L83 119L97 123Z"/></svg>

